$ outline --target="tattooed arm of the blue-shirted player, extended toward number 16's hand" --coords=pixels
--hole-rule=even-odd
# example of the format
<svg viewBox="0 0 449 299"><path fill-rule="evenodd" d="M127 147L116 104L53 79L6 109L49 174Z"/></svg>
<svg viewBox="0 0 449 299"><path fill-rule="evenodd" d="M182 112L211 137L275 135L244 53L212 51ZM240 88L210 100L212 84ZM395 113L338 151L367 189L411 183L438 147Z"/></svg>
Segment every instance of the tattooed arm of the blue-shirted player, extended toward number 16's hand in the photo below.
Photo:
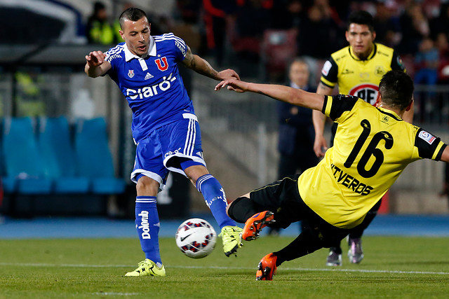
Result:
<svg viewBox="0 0 449 299"><path fill-rule="evenodd" d="M215 69L210 66L209 62L203 60L203 58L199 57L198 55L194 55L189 46L187 46L187 54L185 55L185 59L182 60L182 64L184 64L185 67L188 67L189 69L193 69L198 74L213 78L215 80L221 81L230 78L236 78L237 80L240 80L239 74L237 74L232 69L215 71Z"/></svg>

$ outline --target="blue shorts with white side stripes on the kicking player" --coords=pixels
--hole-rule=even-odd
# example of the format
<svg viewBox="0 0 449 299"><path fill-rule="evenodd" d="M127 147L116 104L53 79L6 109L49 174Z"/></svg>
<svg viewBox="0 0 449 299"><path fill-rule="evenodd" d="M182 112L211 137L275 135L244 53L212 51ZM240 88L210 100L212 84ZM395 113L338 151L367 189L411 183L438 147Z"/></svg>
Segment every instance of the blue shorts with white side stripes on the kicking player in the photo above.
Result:
<svg viewBox="0 0 449 299"><path fill-rule="evenodd" d="M184 119L157 128L137 144L131 181L137 183L141 175L159 182L162 190L168 172L184 174L183 169L203 165L201 132L196 116L185 113Z"/></svg>

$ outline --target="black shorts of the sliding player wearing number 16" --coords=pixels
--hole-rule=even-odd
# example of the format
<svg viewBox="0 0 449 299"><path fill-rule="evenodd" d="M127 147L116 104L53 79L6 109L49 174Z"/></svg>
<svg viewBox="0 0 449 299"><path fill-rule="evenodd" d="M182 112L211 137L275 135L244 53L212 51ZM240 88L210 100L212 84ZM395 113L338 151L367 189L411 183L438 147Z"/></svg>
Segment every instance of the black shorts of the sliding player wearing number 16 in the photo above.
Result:
<svg viewBox="0 0 449 299"><path fill-rule="evenodd" d="M296 221L307 220L309 229L326 245L346 237L349 230L331 225L304 203L297 188L299 176L287 176L251 191L250 200L254 202L257 211L273 211L276 222L271 226L280 228L287 228L290 223Z"/></svg>

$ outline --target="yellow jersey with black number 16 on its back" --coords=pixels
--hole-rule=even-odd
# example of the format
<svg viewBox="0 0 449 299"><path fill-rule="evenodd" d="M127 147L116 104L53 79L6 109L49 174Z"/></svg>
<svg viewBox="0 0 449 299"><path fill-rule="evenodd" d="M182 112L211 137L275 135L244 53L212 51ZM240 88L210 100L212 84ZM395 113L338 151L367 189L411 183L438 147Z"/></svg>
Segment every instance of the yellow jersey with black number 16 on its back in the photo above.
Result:
<svg viewBox="0 0 449 299"><path fill-rule="evenodd" d="M354 96L326 96L322 112L338 123L334 146L300 176L298 189L307 206L337 228L360 224L410 162L440 160L446 146Z"/></svg>

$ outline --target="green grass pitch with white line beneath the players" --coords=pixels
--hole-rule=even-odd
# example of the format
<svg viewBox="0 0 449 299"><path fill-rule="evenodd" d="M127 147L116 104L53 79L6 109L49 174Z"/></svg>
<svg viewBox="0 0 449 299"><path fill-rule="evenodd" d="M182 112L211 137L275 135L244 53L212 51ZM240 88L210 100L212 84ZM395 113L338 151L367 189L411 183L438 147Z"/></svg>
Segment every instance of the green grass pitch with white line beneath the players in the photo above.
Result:
<svg viewBox="0 0 449 299"><path fill-rule="evenodd" d="M260 258L293 237L244 242L227 258L187 258L162 238L166 277L123 277L143 259L138 239L0 240L0 298L448 298L448 238L364 237L365 259L324 265L327 249L255 281ZM343 244L343 250L347 245Z"/></svg>

